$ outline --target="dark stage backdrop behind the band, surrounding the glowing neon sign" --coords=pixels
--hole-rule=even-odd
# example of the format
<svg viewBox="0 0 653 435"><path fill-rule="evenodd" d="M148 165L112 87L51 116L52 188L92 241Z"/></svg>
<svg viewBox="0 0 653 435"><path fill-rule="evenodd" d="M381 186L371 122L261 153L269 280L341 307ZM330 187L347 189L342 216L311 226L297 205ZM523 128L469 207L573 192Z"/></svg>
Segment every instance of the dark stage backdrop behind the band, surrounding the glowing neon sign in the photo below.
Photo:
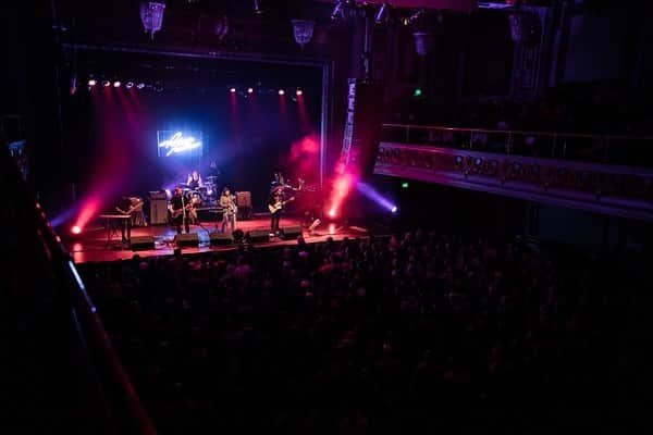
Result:
<svg viewBox="0 0 653 435"><path fill-rule="evenodd" d="M185 183L193 170L206 178L214 161L219 189L251 191L255 210L264 210L274 171L309 183L319 176L320 96L305 95L304 111L294 97L98 87L71 105L81 194L146 196ZM201 158L158 157L158 130L200 130ZM317 148L306 146L309 136Z"/></svg>

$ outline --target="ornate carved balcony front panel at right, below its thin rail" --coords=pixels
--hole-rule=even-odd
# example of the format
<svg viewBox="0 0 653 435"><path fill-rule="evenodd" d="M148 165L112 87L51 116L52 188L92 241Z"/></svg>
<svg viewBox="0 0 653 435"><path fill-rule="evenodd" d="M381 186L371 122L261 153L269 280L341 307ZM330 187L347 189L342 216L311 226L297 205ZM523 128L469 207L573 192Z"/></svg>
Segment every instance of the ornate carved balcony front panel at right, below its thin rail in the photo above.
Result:
<svg viewBox="0 0 653 435"><path fill-rule="evenodd" d="M374 173L653 221L653 169L382 141Z"/></svg>

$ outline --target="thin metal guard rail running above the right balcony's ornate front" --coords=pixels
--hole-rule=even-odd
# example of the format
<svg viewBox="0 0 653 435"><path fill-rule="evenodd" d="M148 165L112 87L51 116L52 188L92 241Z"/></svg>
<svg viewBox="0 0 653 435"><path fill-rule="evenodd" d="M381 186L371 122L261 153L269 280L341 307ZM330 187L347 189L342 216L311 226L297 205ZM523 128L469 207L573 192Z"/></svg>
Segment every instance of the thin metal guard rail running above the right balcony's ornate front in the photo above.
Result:
<svg viewBox="0 0 653 435"><path fill-rule="evenodd" d="M501 154L653 166L653 136L382 124L381 141L433 145Z"/></svg>

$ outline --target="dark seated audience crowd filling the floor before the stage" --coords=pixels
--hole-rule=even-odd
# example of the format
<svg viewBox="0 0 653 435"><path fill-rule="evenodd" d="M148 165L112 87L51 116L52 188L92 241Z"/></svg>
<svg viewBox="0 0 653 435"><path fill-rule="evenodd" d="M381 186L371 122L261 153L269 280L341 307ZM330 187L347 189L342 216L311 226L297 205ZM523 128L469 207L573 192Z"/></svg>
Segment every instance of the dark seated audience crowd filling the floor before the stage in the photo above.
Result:
<svg viewBox="0 0 653 435"><path fill-rule="evenodd" d="M415 231L79 269L162 434L528 433L602 397L604 284L574 261Z"/></svg>

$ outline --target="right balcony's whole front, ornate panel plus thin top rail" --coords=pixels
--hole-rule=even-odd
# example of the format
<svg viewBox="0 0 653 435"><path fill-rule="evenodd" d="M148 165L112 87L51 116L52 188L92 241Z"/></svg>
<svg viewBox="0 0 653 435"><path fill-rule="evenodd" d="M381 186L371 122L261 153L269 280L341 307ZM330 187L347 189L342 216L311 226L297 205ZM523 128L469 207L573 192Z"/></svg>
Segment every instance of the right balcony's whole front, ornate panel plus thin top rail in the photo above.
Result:
<svg viewBox="0 0 653 435"><path fill-rule="evenodd" d="M383 124L374 173L653 221L652 139Z"/></svg>

